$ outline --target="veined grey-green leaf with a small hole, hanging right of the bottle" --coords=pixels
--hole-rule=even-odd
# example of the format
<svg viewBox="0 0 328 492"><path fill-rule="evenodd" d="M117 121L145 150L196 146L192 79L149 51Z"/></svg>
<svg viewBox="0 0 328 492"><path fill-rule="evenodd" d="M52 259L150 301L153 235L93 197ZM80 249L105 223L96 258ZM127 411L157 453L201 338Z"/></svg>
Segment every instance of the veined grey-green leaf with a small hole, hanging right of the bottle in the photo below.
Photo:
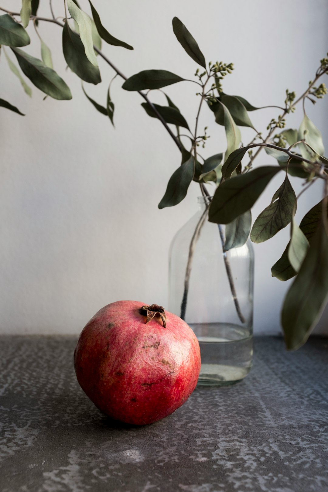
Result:
<svg viewBox="0 0 328 492"><path fill-rule="evenodd" d="M296 194L286 175L284 182L274 193L270 205L253 224L250 236L253 243L263 243L286 227L293 218L296 205Z"/></svg>

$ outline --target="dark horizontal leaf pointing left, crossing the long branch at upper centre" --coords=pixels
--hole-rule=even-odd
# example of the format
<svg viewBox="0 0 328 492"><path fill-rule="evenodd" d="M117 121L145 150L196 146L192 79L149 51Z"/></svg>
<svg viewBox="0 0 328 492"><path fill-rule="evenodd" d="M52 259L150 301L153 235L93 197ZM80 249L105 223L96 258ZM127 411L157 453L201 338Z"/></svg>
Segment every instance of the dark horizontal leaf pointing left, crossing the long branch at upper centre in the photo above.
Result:
<svg viewBox="0 0 328 492"><path fill-rule="evenodd" d="M142 91L143 89L160 89L184 79L167 70L143 70L129 77L122 88L125 91Z"/></svg>

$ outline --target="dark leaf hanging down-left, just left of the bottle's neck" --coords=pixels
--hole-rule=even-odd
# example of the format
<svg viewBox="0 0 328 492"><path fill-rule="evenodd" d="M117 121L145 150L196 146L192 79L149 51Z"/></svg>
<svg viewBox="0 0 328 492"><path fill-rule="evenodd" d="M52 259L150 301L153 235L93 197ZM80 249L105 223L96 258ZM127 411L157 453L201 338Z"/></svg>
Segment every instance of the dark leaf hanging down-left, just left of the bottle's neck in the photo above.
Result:
<svg viewBox="0 0 328 492"><path fill-rule="evenodd" d="M195 159L191 156L171 176L165 194L158 204L159 209L173 207L183 200L194 177L194 172Z"/></svg>

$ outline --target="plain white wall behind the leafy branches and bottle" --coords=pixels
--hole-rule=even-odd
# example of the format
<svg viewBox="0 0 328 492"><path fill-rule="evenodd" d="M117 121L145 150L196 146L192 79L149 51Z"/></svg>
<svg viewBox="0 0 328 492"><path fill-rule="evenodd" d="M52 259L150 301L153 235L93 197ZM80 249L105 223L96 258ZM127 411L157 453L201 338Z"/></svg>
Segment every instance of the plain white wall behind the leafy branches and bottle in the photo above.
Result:
<svg viewBox="0 0 328 492"><path fill-rule="evenodd" d="M39 15L49 17L41 0ZM54 0L62 15L62 0ZM131 43L134 51L105 45L103 51L127 75L163 68L193 78L195 63L177 42L171 21L176 15L197 39L207 60L234 62L225 91L253 105L283 104L285 89L299 95L328 50L326 0L96 0L104 25ZM81 0L87 10L89 3ZM1 6L19 11L19 0ZM32 26L26 49L39 57ZM158 210L166 184L179 165L179 151L161 124L141 108L140 96L112 85L115 124L97 113L80 81L61 54L61 29L40 23L56 70L73 93L56 101L33 87L29 99L1 56L0 94L26 116L0 108L0 332L77 334L103 305L119 299L167 304L168 247L176 231L195 212L199 189L192 184L177 207ZM113 70L100 61L103 83L86 84L105 103ZM327 82L327 81L326 81ZM167 92L192 122L198 104L196 86L180 83ZM161 94L153 100L163 103ZM306 104L323 130L328 147L328 96L316 107ZM265 131L279 110L252 113ZM288 117L297 126L301 108ZM200 128L209 126L206 155L225 150L222 127L204 108ZM243 130L243 142L252 131ZM263 152L258 164L273 161ZM254 207L258 215L278 187L278 177ZM295 182L296 189L299 184ZM298 219L321 197L321 185L302 195ZM149 234L149 224L158 224ZM288 242L289 228L255 245L255 332L277 333L287 283L271 278L270 268ZM327 330L328 311L319 330ZM318 331L318 330L317 330Z"/></svg>

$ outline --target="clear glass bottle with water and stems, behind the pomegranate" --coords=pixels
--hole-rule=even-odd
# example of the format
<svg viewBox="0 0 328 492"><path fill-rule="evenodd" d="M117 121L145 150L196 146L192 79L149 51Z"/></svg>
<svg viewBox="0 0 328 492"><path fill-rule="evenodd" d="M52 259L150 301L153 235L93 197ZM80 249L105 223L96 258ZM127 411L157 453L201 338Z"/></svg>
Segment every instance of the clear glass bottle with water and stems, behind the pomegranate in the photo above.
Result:
<svg viewBox="0 0 328 492"><path fill-rule="evenodd" d="M225 226L208 221L206 197L170 246L169 306L195 332L198 384L230 385L252 367L254 254L250 240L224 252Z"/></svg>

